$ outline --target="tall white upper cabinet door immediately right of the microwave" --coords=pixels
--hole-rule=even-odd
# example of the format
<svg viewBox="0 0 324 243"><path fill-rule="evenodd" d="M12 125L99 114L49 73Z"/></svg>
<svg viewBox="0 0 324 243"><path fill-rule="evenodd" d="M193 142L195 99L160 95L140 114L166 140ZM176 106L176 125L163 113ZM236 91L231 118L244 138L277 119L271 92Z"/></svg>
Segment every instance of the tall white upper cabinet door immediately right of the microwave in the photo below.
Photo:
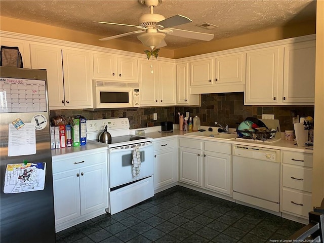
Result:
<svg viewBox="0 0 324 243"><path fill-rule="evenodd" d="M139 82L141 87L141 105L158 104L158 63L138 61Z"/></svg>

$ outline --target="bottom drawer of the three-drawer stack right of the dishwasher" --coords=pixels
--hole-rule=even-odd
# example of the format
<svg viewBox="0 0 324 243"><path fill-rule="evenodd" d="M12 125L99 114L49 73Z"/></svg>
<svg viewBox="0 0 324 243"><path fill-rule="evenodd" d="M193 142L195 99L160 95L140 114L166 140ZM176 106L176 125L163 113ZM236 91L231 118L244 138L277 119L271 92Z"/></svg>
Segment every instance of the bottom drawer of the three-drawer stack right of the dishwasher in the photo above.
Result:
<svg viewBox="0 0 324 243"><path fill-rule="evenodd" d="M282 210L308 217L308 212L312 211L312 196L284 188Z"/></svg>

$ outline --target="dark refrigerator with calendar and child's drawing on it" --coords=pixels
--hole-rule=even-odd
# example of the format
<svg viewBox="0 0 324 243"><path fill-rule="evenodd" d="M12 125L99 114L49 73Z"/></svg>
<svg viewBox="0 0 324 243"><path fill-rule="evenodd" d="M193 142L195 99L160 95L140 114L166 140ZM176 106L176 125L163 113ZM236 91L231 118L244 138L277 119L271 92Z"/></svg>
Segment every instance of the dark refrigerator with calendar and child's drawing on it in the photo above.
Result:
<svg viewBox="0 0 324 243"><path fill-rule="evenodd" d="M46 70L0 67L0 242L55 242Z"/></svg>

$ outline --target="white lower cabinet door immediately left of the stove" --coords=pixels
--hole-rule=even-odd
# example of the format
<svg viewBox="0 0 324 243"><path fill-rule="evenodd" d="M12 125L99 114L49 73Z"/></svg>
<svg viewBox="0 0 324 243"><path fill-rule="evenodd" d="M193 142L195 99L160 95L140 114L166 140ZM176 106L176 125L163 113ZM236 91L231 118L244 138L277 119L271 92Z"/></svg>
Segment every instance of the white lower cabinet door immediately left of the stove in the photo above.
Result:
<svg viewBox="0 0 324 243"><path fill-rule="evenodd" d="M108 207L106 164L80 169L81 214Z"/></svg>

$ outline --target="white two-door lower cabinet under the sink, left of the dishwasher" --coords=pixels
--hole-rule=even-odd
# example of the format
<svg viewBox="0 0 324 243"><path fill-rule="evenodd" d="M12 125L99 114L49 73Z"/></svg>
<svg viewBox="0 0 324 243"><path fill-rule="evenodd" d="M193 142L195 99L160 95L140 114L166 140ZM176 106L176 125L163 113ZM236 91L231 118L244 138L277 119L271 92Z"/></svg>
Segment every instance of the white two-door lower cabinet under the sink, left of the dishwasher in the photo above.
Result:
<svg viewBox="0 0 324 243"><path fill-rule="evenodd" d="M180 138L179 165L179 181L232 195L230 143Z"/></svg>

